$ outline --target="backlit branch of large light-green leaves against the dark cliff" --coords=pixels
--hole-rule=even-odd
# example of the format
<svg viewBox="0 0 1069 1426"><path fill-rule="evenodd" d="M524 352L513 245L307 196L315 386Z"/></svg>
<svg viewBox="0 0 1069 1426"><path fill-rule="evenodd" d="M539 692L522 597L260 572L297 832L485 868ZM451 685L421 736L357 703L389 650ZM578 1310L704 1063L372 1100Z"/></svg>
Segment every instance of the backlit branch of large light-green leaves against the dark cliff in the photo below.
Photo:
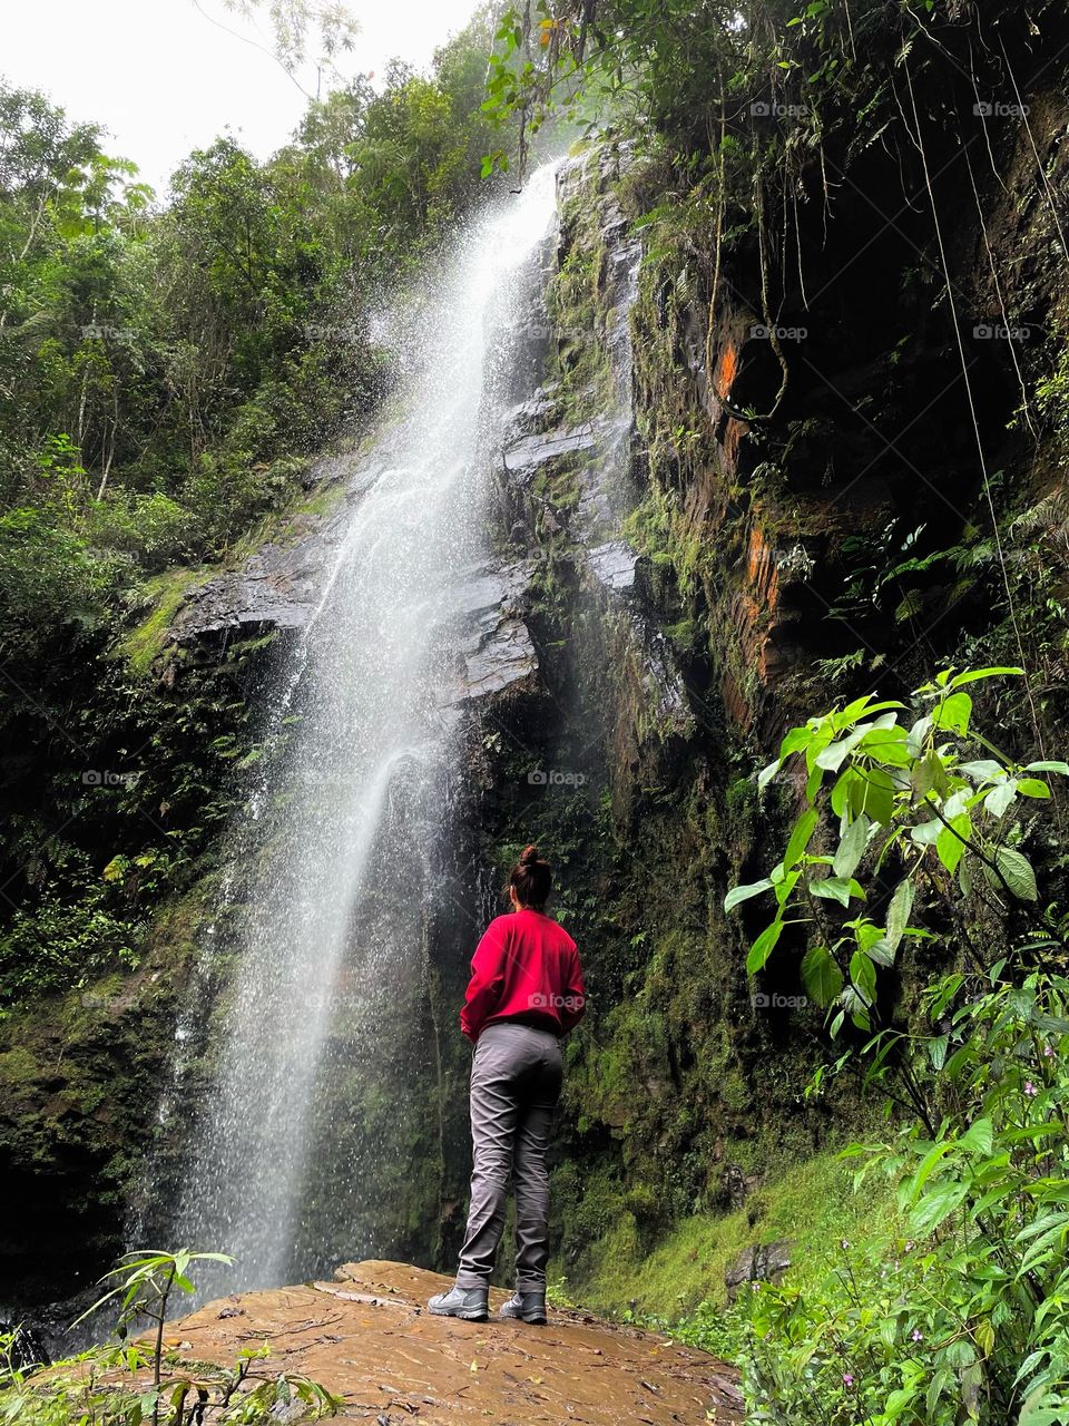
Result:
<svg viewBox="0 0 1069 1426"><path fill-rule="evenodd" d="M1048 776L1069 774L1069 763L1015 763L971 726L972 697L965 692L981 679L1019 673L944 670L918 689L921 716L908 729L898 720L901 703L865 694L791 729L780 756L760 774L764 787L798 759L804 807L783 861L760 881L734 887L724 908L767 893L775 898L774 918L750 947L751 975L790 925L817 930L801 977L812 1000L832 1008L832 1035L847 1017L859 1030L872 1028L878 970L895 964L904 938L925 934L909 924L918 891L944 903L993 900L1001 908L1036 900L1035 870L1021 850L1025 809L1050 799ZM838 820L838 833L817 853L810 848L825 810ZM869 901L858 881L862 866L875 881L878 920L862 910ZM898 880L888 894L881 878L894 868ZM835 917L831 907L842 914Z"/></svg>

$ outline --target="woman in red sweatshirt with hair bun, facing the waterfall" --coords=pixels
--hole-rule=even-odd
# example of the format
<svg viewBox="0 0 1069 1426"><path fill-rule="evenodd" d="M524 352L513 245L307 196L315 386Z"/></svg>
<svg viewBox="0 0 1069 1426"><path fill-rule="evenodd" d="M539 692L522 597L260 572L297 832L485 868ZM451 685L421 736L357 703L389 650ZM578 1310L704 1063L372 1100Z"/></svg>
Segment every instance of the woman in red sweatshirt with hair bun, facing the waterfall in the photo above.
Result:
<svg viewBox="0 0 1069 1426"><path fill-rule="evenodd" d="M525 847L509 877L510 915L490 921L472 957L460 1030L472 1062L472 1206L456 1285L428 1302L438 1316L486 1320L490 1273L516 1189L516 1292L503 1318L546 1320L549 1174L546 1149L560 1095L560 1038L583 1018L576 943L546 901L553 871Z"/></svg>

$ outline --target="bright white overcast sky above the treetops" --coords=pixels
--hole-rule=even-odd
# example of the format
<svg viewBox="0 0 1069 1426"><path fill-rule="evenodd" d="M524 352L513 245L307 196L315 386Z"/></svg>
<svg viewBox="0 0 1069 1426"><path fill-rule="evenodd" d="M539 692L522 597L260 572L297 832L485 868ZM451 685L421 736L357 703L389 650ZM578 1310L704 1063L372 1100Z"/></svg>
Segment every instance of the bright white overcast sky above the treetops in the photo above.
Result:
<svg viewBox="0 0 1069 1426"><path fill-rule="evenodd" d="M361 34L338 67L381 76L393 56L425 66L475 6L351 0ZM73 120L104 125L105 151L138 164L161 197L181 160L227 128L267 158L308 103L265 53L267 21L244 20L222 0L0 0L0 77L43 90ZM315 91L314 67L298 77Z"/></svg>

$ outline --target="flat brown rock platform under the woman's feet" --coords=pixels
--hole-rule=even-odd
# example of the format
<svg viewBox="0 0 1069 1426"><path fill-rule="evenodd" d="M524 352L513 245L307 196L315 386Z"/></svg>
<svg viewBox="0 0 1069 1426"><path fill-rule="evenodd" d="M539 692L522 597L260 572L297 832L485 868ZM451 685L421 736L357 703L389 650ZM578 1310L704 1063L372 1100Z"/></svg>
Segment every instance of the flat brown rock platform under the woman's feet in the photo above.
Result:
<svg viewBox="0 0 1069 1426"><path fill-rule="evenodd" d="M268 1343L264 1365L321 1382L342 1420L378 1426L631 1426L741 1422L728 1366L667 1338L550 1310L544 1328L435 1318L450 1279L398 1262L346 1263L335 1282L242 1292L168 1325L167 1346L229 1363ZM507 1293L493 1291L492 1313Z"/></svg>

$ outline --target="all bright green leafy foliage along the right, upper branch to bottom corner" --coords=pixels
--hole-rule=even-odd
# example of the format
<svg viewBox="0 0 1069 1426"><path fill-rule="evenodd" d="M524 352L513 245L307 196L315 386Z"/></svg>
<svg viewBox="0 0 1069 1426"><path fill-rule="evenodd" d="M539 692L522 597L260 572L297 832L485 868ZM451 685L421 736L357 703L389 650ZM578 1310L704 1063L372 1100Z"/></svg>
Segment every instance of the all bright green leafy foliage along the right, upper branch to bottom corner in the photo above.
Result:
<svg viewBox="0 0 1069 1426"><path fill-rule="evenodd" d="M1039 893L1021 850L1023 809L1050 804L1040 774L1069 764L1019 766L972 727L965 692L1015 673L944 670L918 690L908 730L899 703L865 696L792 729L760 774L767 786L798 759L804 809L783 860L725 906L777 900L750 974L785 925L811 927L801 975L828 1007L832 1035L847 1015L874 1028L878 974L907 937L934 937L915 915L938 927L948 908L979 898L996 913L986 924L1001 918L1015 944L983 957L966 943L949 971L944 951L916 1030L888 1022L881 1004L884 1028L858 1055L865 1082L888 1091L895 1128L845 1152L862 1161L855 1188L872 1175L894 1185L905 1238L844 1241L815 1289L755 1289L741 1349L753 1420L1039 1426L1069 1406L1069 980L1060 938L1022 934ZM837 831L817 854L825 809ZM879 880L891 867L894 890ZM877 920L854 907L869 893ZM828 903L841 908L831 934ZM975 908L971 920L983 924ZM818 1071L807 1094L824 1078Z"/></svg>

